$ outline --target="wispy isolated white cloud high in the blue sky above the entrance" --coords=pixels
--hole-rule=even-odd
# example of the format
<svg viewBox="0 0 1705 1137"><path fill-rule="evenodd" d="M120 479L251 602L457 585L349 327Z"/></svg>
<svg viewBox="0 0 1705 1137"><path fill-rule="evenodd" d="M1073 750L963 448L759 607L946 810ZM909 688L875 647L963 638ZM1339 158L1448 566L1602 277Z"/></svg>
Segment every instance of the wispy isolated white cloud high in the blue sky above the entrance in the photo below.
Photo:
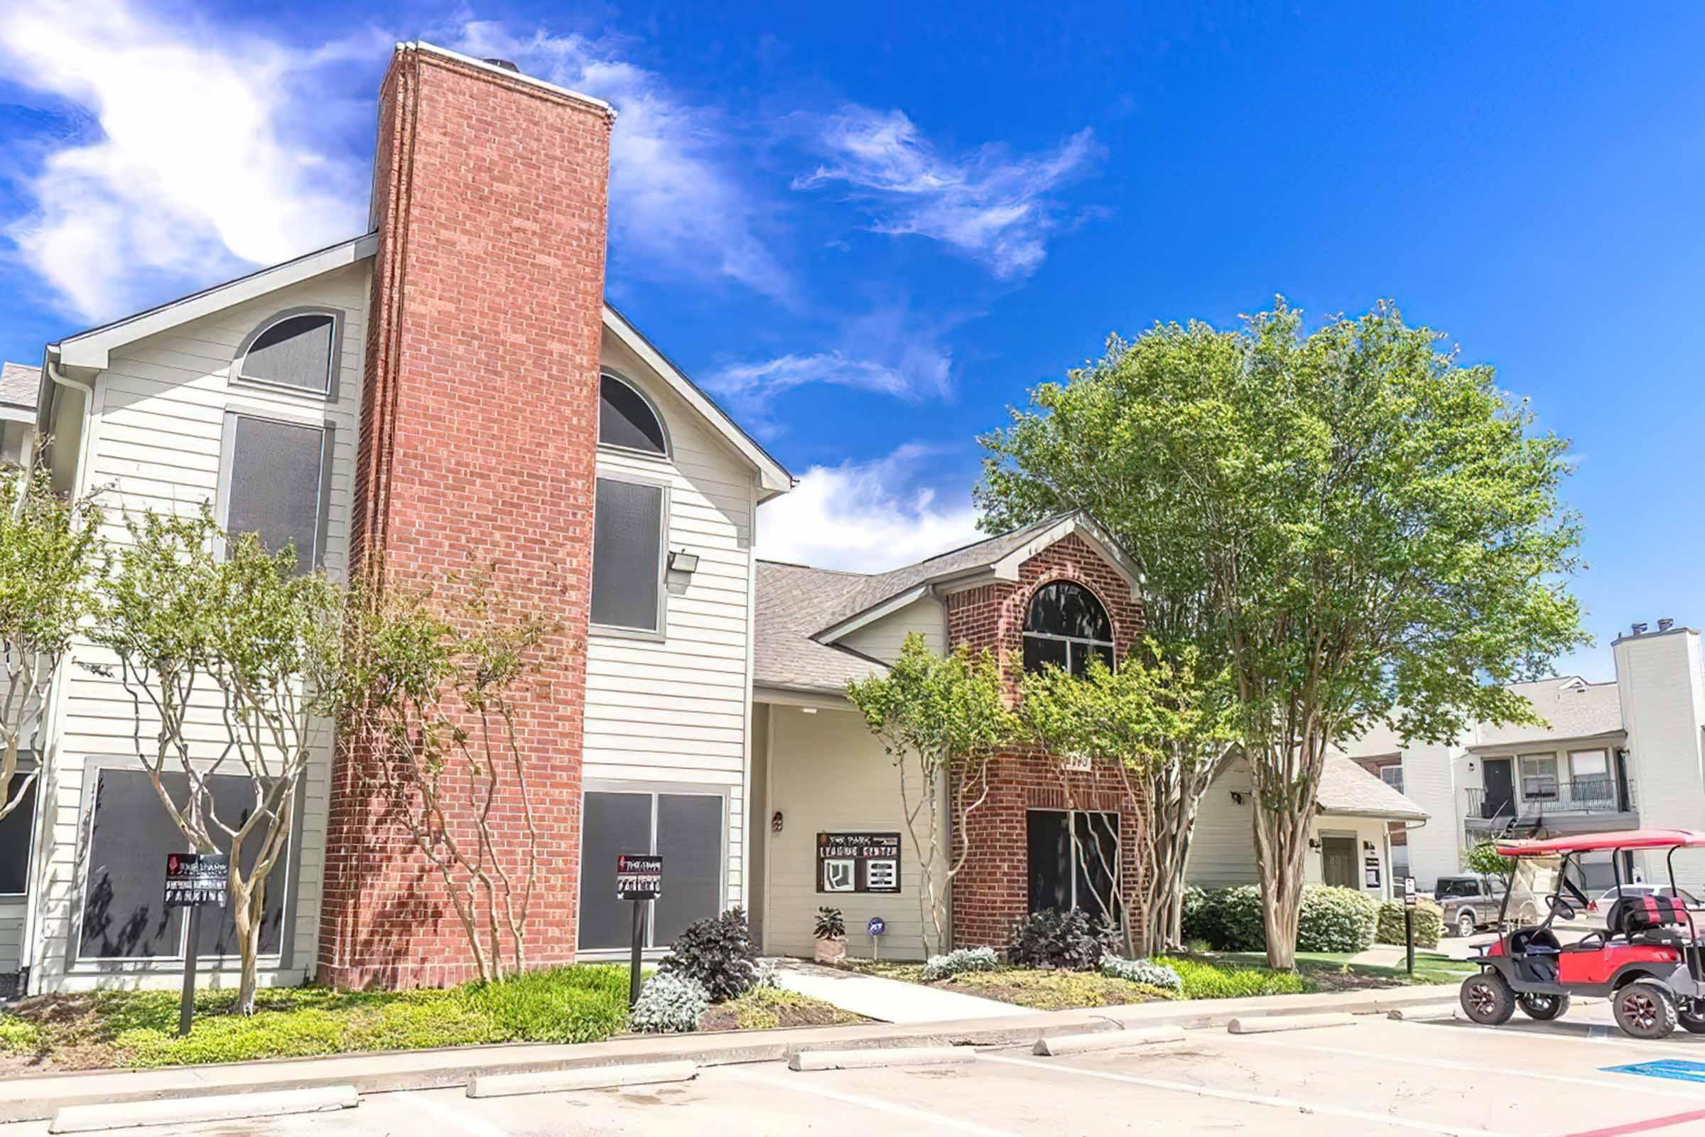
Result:
<svg viewBox="0 0 1705 1137"><path fill-rule="evenodd" d="M876 232L941 240L1001 280L1042 264L1061 211L1050 194L1101 152L1084 128L1050 153L1014 159L987 145L950 160L905 113L863 106L815 124L813 141L830 162L795 179L796 189L846 184L880 203Z"/></svg>

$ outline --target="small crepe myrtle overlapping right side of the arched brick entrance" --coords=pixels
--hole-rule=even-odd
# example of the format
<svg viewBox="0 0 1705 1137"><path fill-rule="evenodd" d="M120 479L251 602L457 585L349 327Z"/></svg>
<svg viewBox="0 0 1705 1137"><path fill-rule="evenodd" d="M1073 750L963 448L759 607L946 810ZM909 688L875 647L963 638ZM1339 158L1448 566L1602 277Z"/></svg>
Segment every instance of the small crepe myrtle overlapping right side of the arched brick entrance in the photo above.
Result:
<svg viewBox="0 0 1705 1137"><path fill-rule="evenodd" d="M1200 653L1192 644L1168 651L1146 639L1108 670L1091 658L1084 675L1057 667L1025 675L1020 714L1037 743L1052 755L1089 762L1103 782L1118 786L1124 811L1137 818L1137 832L1112 834L1113 864L1089 864L1100 857L1100 842L1079 842L1078 857L1089 880L1117 881L1124 840L1136 842L1141 890L1141 926L1130 905L1115 897L1095 897L1107 917L1117 917L1125 948L1146 955L1183 943L1183 881L1190 863L1190 835L1202 794L1236 740L1231 677L1221 670L1204 675ZM1067 805L1078 808L1076 786L1064 765L1061 784Z"/></svg>

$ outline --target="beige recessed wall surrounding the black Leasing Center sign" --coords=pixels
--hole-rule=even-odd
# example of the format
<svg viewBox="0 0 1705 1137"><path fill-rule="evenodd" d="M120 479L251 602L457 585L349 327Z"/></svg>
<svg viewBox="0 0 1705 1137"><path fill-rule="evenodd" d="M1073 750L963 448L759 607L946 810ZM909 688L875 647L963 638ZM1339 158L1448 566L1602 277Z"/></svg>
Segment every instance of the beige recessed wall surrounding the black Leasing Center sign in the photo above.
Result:
<svg viewBox="0 0 1705 1137"><path fill-rule="evenodd" d="M849 711L769 707L767 810L781 811L781 834L769 835L769 903L764 912L764 951L810 956L812 926L820 905L839 907L847 922L847 953L871 955L864 926L887 921L885 958L921 958L924 917L919 912L922 861L905 834L900 781L863 719ZM905 856L899 893L818 893L818 832L899 832ZM943 828L945 839L946 828Z"/></svg>

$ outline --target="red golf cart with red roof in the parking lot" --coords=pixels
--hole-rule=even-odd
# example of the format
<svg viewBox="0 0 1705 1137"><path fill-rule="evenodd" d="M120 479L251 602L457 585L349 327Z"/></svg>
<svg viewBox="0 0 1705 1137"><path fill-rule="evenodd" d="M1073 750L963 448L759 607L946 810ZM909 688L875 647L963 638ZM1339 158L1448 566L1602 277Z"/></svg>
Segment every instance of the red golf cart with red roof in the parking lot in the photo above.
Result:
<svg viewBox="0 0 1705 1137"><path fill-rule="evenodd" d="M1618 854L1625 849L1669 851L1667 895L1623 890ZM1616 1024L1635 1038L1662 1038L1678 1021L1705 1035L1705 973L1693 914L1676 888L1676 849L1705 849L1705 834L1633 828L1497 842L1497 851L1516 861L1516 871L1499 912L1502 934L1475 960L1480 973L1463 980L1468 1018L1497 1026L1521 1007L1528 1018L1548 1021L1569 1009L1570 996L1596 996L1611 1001ZM1563 944L1552 926L1575 919L1591 903L1581 871L1587 852L1611 854L1621 898L1606 912L1603 931ZM1536 921L1540 912L1543 921Z"/></svg>

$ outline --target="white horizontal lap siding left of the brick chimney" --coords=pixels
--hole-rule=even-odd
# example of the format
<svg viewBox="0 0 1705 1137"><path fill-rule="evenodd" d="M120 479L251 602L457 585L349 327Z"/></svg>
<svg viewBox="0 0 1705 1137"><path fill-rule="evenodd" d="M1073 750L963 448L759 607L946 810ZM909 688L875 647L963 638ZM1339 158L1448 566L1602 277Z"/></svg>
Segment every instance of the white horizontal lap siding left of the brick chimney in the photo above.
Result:
<svg viewBox="0 0 1705 1137"><path fill-rule="evenodd" d="M189 515L215 503L220 482L220 436L227 409L281 419L329 421L336 431L331 465L326 568L341 576L348 566L351 470L361 392L361 349L367 319L367 264L343 268L310 281L203 317L182 327L114 351L95 385L95 421L89 438L84 488L102 488L106 535L124 542L124 513L145 508ZM230 360L242 339L269 315L293 307L332 307L343 312L338 399L264 390L228 382ZM111 658L78 644L78 663ZM101 977L99 965L75 965L66 973L82 903L80 842L85 762L119 759L136 769L138 713L116 677L99 677L72 665L63 673L56 745L56 777L46 788L48 842L41 888L36 965L48 987L85 987ZM140 736L150 736L152 714L143 702ZM211 755L223 735L211 690L194 701L188 735L201 755ZM324 869L326 806L332 760L332 730L317 728L319 742L298 799L302 810L300 880L292 927L293 967L275 978L300 975L314 958ZM3 944L0 917L0 944ZM0 946L3 955L3 946ZM162 963L133 982L164 982L176 965Z"/></svg>

